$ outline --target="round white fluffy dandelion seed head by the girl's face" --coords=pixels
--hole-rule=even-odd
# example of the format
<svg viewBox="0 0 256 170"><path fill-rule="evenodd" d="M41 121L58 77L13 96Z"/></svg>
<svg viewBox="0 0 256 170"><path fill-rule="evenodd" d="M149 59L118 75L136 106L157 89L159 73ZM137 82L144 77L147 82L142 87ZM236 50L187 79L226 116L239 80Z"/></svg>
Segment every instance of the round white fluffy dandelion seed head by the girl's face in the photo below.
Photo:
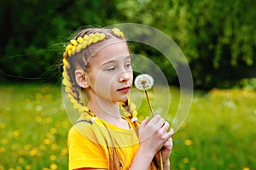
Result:
<svg viewBox="0 0 256 170"><path fill-rule="evenodd" d="M139 90L148 90L152 88L154 79L148 74L141 74L135 78L134 84Z"/></svg>

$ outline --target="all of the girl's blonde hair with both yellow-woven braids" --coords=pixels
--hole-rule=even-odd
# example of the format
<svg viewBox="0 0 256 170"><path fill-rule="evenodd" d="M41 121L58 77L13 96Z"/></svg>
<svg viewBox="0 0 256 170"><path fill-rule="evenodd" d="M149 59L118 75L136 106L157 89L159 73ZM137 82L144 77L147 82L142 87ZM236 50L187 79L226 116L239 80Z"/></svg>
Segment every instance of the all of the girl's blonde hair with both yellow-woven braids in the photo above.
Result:
<svg viewBox="0 0 256 170"><path fill-rule="evenodd" d="M90 69L90 58L96 54L105 45L113 42L125 42L124 34L119 29L106 28L89 28L80 31L70 42L63 54L63 73L62 83L65 86L68 98L73 104L73 108L79 111L84 120L91 123L91 126L96 133L97 142L102 145L102 149L108 158L110 170L119 170L119 153L116 150L113 141L113 136L109 133L107 126L101 119L96 119L93 111L90 111L80 97L79 85L75 81L75 70L78 68L87 71ZM131 104L130 99L121 103L121 108L125 112L125 116L131 119L134 127L139 127L137 121L136 107ZM151 166L153 167L153 166ZM154 166L155 167L155 166ZM155 169L155 168L152 168Z"/></svg>

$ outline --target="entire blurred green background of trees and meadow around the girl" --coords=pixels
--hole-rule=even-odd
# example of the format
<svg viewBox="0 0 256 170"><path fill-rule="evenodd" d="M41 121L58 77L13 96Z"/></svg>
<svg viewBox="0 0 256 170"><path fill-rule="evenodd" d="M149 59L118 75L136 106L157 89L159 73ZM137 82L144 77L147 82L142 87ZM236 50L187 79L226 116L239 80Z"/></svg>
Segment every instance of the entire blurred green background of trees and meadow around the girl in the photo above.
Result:
<svg viewBox="0 0 256 170"><path fill-rule="evenodd" d="M173 137L172 169L256 169L256 1L2 0L0 8L0 170L67 169L65 44L81 26L127 22L165 32L189 61L195 93ZM176 111L176 72L156 50L131 49L159 64Z"/></svg>

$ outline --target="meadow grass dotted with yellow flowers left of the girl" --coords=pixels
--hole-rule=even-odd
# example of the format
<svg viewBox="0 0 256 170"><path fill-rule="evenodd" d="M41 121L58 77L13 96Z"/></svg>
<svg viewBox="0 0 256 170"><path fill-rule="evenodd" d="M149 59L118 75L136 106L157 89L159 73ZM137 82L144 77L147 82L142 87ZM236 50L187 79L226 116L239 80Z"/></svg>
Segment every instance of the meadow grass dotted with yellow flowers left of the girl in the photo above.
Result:
<svg viewBox="0 0 256 170"><path fill-rule="evenodd" d="M61 88L17 84L0 88L0 169L67 169Z"/></svg>

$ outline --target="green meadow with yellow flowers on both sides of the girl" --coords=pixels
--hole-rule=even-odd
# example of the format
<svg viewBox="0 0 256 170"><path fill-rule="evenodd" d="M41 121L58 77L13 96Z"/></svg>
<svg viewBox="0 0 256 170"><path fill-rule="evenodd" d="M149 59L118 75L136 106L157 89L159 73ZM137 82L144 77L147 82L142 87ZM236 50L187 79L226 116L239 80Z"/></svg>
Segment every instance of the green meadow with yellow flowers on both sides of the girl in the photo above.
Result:
<svg viewBox="0 0 256 170"><path fill-rule="evenodd" d="M178 89L170 89L172 100L179 99ZM255 99L247 90L195 91L189 116L173 136L172 169L256 169ZM0 84L0 170L67 169L71 126L61 86Z"/></svg>

